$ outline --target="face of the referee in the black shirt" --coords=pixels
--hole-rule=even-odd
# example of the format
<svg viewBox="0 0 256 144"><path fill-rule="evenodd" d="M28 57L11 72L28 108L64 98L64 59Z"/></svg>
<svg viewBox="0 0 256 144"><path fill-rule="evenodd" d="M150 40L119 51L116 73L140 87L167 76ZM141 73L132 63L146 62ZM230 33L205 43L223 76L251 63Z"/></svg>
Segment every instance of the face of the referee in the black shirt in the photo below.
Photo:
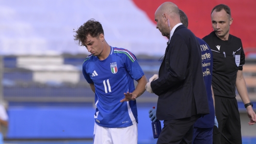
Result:
<svg viewBox="0 0 256 144"><path fill-rule="evenodd" d="M211 14L212 28L216 35L222 40L228 40L230 25L233 22L233 18L230 18L225 10L216 12L215 10Z"/></svg>

